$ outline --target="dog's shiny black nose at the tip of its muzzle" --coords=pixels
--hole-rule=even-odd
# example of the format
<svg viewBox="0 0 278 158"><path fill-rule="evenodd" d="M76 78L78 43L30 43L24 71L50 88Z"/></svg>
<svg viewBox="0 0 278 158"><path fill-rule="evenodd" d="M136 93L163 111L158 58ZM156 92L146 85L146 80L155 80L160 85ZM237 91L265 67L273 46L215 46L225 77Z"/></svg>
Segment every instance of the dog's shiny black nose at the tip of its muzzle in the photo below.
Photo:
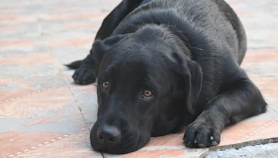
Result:
<svg viewBox="0 0 278 158"><path fill-rule="evenodd" d="M97 139L101 144L117 143L121 140L121 132L114 126L102 125L97 130Z"/></svg>

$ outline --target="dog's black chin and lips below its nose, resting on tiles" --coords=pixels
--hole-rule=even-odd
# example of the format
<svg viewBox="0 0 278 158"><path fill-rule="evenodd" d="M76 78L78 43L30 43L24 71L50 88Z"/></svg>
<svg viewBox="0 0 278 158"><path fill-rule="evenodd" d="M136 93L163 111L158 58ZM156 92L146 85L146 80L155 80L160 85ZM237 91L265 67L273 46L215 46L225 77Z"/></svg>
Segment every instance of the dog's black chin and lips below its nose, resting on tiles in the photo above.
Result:
<svg viewBox="0 0 278 158"><path fill-rule="evenodd" d="M138 134L136 132L129 132L124 134L122 141L119 143L108 143L101 145L97 141L97 125L95 124L90 132L90 143L94 150L99 152L106 152L115 155L125 154L140 149L149 141L150 134Z"/></svg>

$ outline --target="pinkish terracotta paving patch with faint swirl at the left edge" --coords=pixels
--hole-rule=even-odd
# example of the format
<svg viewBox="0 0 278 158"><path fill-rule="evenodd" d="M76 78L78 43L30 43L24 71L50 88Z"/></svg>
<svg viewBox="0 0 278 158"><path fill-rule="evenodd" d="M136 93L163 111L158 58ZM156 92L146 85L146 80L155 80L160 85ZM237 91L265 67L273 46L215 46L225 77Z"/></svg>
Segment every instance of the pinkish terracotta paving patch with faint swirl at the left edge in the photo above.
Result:
<svg viewBox="0 0 278 158"><path fill-rule="evenodd" d="M44 89L34 94L22 96L0 104L0 116L23 118L32 116L51 116L67 113L67 105L73 103L72 94L67 87Z"/></svg>

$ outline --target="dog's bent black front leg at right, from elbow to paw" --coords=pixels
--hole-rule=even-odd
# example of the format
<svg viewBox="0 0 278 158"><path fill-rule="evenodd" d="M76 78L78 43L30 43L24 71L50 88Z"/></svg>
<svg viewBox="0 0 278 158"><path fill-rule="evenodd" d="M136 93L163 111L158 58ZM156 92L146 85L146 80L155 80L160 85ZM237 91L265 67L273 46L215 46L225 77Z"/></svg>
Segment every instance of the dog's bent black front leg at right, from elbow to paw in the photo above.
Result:
<svg viewBox="0 0 278 158"><path fill-rule="evenodd" d="M259 89L245 72L241 74L243 77L210 100L197 119L188 125L183 138L186 146L216 146L225 125L265 112L266 103Z"/></svg>

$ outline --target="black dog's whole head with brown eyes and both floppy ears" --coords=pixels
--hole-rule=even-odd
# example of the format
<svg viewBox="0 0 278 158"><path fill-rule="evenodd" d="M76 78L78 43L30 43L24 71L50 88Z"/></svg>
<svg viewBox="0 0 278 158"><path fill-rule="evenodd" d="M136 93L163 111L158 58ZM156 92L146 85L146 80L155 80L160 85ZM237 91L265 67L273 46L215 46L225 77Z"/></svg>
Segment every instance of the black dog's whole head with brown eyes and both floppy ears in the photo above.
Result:
<svg viewBox="0 0 278 158"><path fill-rule="evenodd" d="M202 71L178 39L149 26L95 42L99 109L92 148L114 154L138 150L151 136L180 128L183 115L194 112Z"/></svg>

